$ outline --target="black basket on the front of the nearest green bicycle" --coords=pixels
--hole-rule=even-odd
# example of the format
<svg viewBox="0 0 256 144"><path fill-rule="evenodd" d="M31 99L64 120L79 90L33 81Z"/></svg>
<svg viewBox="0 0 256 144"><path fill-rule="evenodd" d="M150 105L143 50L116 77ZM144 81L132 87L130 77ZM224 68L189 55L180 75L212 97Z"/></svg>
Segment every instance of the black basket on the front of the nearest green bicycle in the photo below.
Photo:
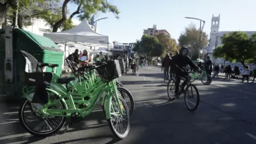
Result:
<svg viewBox="0 0 256 144"><path fill-rule="evenodd" d="M107 61L106 64L96 68L102 82L106 83L122 76L118 60Z"/></svg>

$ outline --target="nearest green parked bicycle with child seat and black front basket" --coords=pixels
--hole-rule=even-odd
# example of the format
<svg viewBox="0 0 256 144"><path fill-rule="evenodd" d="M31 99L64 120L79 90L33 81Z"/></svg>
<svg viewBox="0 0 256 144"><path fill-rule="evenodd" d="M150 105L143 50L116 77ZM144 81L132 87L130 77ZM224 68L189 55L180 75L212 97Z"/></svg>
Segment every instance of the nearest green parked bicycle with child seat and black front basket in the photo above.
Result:
<svg viewBox="0 0 256 144"><path fill-rule="evenodd" d="M96 69L99 73L101 82L98 82L83 93L81 88L81 79L79 83L74 85L78 89L77 95L79 99L72 96L72 92L68 88L68 83L74 81L75 77L60 78L56 82L65 84L67 91L52 90L48 88L51 84L51 72L35 72L37 61L29 60L26 54L26 70L25 82L28 86L35 86L33 92L26 93L19 109L20 124L30 134L35 136L49 136L58 132L65 124L67 118L71 118L67 127L73 122L80 122L81 118L92 113L96 103L102 97L102 109L106 115L109 127L116 137L122 139L127 136L130 128L130 115L122 97L117 95L117 88L115 79L120 77L120 68L118 61L108 61L106 64L100 66L91 66L83 69L83 71ZM29 63L31 63L29 65ZM90 95L88 100L84 100L85 96ZM73 98L74 97L74 98ZM79 102L83 107L76 106L75 102ZM31 116L26 116L26 114ZM28 118L29 120L27 120ZM32 123L32 125L29 125Z"/></svg>

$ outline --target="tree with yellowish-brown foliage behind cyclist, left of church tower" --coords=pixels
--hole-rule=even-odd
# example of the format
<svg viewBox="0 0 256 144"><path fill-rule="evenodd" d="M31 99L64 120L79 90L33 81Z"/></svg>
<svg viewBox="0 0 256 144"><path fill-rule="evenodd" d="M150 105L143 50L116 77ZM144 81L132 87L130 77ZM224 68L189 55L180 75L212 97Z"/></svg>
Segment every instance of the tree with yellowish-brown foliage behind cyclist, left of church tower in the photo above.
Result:
<svg viewBox="0 0 256 144"><path fill-rule="evenodd" d="M188 27L185 28L185 31L183 31L180 36L179 36L179 45L184 46L186 45L189 48L190 51L190 56L192 60L196 60L198 58L198 53L199 53L199 35L200 35L200 30L196 29L196 25L191 23L189 24ZM201 36L201 47L202 43L204 42L204 35L205 33L202 33ZM208 39L208 35L207 39ZM205 44L207 45L207 41L205 41Z"/></svg>

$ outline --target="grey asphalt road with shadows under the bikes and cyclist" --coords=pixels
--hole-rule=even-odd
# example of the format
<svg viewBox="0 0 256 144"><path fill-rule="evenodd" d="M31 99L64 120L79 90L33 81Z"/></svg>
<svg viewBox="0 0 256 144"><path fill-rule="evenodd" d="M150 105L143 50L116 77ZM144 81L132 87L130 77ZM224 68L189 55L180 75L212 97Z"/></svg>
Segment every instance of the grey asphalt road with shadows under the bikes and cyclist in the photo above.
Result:
<svg viewBox="0 0 256 144"><path fill-rule="evenodd" d="M168 100L159 67L140 69L140 76L120 77L135 100L131 129L118 141L101 109L54 136L37 138L22 129L16 103L0 103L0 143L256 143L256 83L214 79L209 86L195 81L200 106L193 113L183 97Z"/></svg>

